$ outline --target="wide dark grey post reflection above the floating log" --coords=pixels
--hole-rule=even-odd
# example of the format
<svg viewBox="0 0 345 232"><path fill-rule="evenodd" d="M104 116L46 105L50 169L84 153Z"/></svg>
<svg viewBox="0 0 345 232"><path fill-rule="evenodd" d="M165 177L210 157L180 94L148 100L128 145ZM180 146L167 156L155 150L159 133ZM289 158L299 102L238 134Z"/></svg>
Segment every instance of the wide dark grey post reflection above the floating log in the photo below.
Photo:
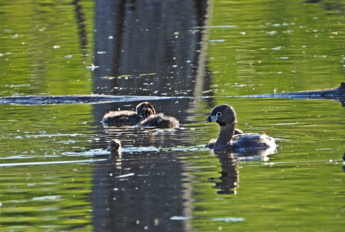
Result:
<svg viewBox="0 0 345 232"><path fill-rule="evenodd" d="M207 2L96 1L94 93L192 96L208 88L199 59Z"/></svg>

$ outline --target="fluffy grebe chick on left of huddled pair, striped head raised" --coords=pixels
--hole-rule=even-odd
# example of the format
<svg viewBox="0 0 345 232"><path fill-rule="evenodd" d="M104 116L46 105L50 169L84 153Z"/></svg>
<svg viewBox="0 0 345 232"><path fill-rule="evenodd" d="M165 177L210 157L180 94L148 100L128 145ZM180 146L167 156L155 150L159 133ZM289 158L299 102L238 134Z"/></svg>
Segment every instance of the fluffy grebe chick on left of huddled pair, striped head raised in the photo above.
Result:
<svg viewBox="0 0 345 232"><path fill-rule="evenodd" d="M150 112L155 113L155 109L153 105L147 101L141 102L137 105L136 111L133 110L119 110L119 111L110 111L103 116L102 123L105 126L113 126L113 125L135 125L142 118L140 112L143 109L151 109ZM150 113L149 112L149 113ZM148 115L147 115L148 116Z"/></svg>

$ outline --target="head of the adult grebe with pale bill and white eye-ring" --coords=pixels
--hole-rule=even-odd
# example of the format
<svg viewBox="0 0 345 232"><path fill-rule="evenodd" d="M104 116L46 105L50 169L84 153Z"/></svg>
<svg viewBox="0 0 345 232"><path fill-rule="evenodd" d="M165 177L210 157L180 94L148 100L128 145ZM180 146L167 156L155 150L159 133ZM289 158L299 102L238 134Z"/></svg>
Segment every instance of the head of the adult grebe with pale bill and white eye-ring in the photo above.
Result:
<svg viewBox="0 0 345 232"><path fill-rule="evenodd" d="M236 113L230 105L218 105L215 107L205 122L217 122L221 127L231 124L236 125Z"/></svg>

